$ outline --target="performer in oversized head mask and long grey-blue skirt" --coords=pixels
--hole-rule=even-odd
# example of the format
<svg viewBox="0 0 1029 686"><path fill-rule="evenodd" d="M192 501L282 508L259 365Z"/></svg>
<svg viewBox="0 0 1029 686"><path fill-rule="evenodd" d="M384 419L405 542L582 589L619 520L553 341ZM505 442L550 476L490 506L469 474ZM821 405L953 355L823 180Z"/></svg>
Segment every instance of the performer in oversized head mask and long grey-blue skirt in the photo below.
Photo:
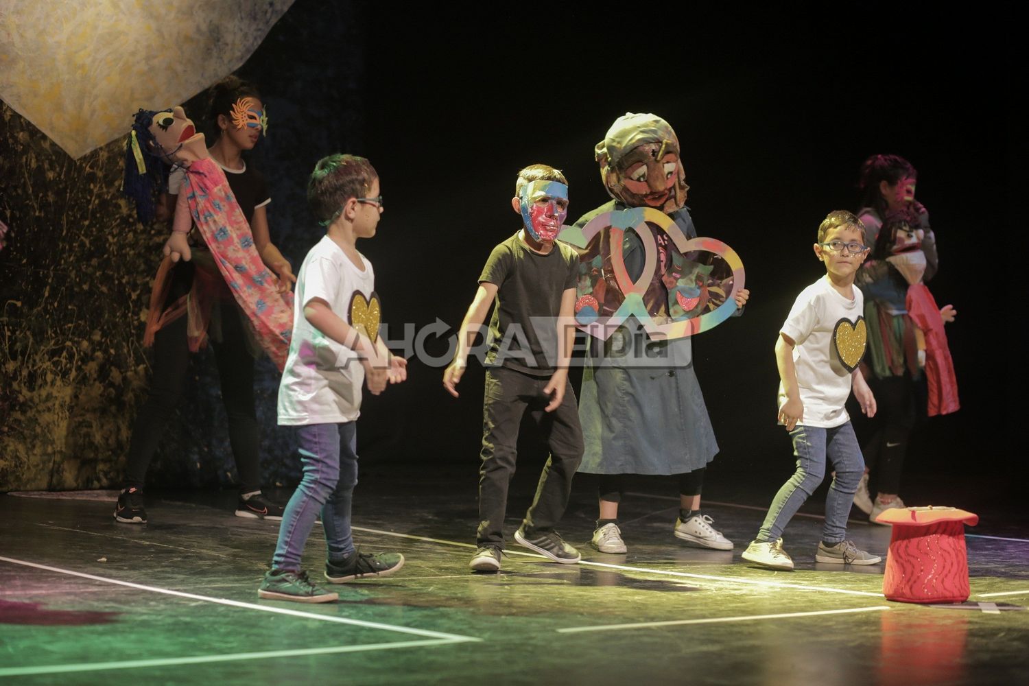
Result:
<svg viewBox="0 0 1029 686"><path fill-rule="evenodd" d="M668 122L653 114L627 113L614 121L594 152L612 201L579 218L562 237L574 243L577 231L588 242L576 293L579 325L618 310L627 298L627 284L642 292L646 314L658 323L694 317L724 302L733 270L728 269L725 284L711 279L712 265L699 263L693 253L683 255L670 234L674 230L684 240L697 238L685 207L688 186L679 140ZM661 219L666 228L647 220L624 230L606 226L596 234L593 228L582 232L605 213L615 213L610 219L617 222L616 213L634 208L660 212L664 216L650 217ZM650 236L638 233L647 230ZM732 308L735 311L735 303ZM638 318L630 317L606 339L593 338L582 374L579 417L586 442L579 471L601 475L602 516L609 517L612 506L616 514L626 475L676 474L682 503L688 496L696 503L689 509L696 512L680 512L675 536L701 547L733 547L699 512L701 475L718 445L694 372L688 336L647 340ZM613 530L616 540L609 535L613 519L599 520L592 544L603 552L624 552L619 530Z"/></svg>

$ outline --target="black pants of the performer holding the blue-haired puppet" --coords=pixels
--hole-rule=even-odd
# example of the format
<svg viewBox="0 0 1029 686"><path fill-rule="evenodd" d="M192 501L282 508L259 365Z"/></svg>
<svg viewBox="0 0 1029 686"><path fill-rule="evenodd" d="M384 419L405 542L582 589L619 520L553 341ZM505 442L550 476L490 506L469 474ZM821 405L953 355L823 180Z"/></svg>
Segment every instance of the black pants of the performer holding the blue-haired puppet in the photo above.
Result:
<svg viewBox="0 0 1029 686"><path fill-rule="evenodd" d="M214 359L221 382L221 400L228 414L228 441L233 446L240 492L260 491L257 414L254 410L254 359L247 352L243 323L235 303L221 304L222 341L215 344ZM136 417L126 488L142 489L168 420L182 399L189 368L186 318L180 317L157 331L153 339L153 378L150 395Z"/></svg>

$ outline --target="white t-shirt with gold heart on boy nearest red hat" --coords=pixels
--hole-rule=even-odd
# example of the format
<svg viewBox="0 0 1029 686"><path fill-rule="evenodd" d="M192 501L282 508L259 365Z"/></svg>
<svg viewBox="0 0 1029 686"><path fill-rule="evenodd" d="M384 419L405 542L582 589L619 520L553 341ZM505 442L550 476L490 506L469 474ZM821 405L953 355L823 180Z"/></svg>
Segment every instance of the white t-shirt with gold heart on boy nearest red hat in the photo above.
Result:
<svg viewBox="0 0 1029 686"><path fill-rule="evenodd" d="M864 355L867 335L863 311L861 290L855 286L854 299L848 300L832 288L828 276L796 296L781 332L796 344L793 366L804 403L800 424L828 429L850 421L844 403L850 395L851 372L844 361L853 369ZM780 409L785 402L780 383Z"/></svg>

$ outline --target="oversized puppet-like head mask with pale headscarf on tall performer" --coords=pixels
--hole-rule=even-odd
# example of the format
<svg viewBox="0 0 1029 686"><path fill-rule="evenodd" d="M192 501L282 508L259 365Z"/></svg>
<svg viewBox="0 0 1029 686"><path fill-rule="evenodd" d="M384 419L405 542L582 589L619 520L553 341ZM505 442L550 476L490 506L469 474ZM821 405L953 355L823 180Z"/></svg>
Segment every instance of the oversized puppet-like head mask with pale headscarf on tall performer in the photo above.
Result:
<svg viewBox="0 0 1029 686"><path fill-rule="evenodd" d="M626 113L614 120L594 153L611 197L666 213L685 205L689 186L679 159L679 139L661 117Z"/></svg>

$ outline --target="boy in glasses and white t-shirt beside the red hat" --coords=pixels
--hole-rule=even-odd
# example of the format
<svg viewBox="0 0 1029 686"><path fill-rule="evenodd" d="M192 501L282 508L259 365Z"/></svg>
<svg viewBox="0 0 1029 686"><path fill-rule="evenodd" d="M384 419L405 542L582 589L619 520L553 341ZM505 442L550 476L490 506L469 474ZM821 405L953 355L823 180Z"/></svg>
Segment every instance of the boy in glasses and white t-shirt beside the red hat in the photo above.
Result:
<svg viewBox="0 0 1029 686"><path fill-rule="evenodd" d="M779 423L793 441L796 471L776 494L757 538L743 558L761 567L793 569L782 548L782 532L825 476L826 459L836 474L825 498L825 525L815 562L876 565L881 558L847 540L847 516L864 473L850 417L844 404L851 390L861 411L873 417L876 399L858 364L866 327L861 291L854 277L867 254L864 226L850 212L830 212L818 227L815 256L825 276L793 302L779 339Z"/></svg>

